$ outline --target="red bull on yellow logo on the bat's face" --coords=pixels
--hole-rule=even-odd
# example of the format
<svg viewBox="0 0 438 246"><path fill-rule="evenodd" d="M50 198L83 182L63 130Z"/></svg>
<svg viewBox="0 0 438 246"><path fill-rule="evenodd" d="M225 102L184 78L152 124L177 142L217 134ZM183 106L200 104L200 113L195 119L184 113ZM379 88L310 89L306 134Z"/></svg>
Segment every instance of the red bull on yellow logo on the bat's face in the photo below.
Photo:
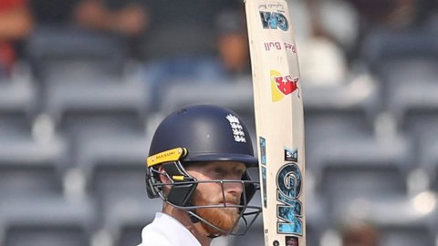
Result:
<svg viewBox="0 0 438 246"><path fill-rule="evenodd" d="M276 70L271 70L270 74L273 102L283 99L283 97L292 94L294 91L299 92L299 77L292 77L291 75L283 76Z"/></svg>

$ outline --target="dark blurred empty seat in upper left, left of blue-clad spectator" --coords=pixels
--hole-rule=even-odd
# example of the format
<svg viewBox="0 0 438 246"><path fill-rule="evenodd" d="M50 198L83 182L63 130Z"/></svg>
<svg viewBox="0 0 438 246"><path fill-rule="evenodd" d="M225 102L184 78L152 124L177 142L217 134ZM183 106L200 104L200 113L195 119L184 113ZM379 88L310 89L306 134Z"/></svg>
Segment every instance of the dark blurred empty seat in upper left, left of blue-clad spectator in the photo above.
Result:
<svg viewBox="0 0 438 246"><path fill-rule="evenodd" d="M126 46L119 37L68 26L36 26L25 48L43 83L57 83L58 77L72 74L83 77L89 72L120 75L127 59Z"/></svg>

